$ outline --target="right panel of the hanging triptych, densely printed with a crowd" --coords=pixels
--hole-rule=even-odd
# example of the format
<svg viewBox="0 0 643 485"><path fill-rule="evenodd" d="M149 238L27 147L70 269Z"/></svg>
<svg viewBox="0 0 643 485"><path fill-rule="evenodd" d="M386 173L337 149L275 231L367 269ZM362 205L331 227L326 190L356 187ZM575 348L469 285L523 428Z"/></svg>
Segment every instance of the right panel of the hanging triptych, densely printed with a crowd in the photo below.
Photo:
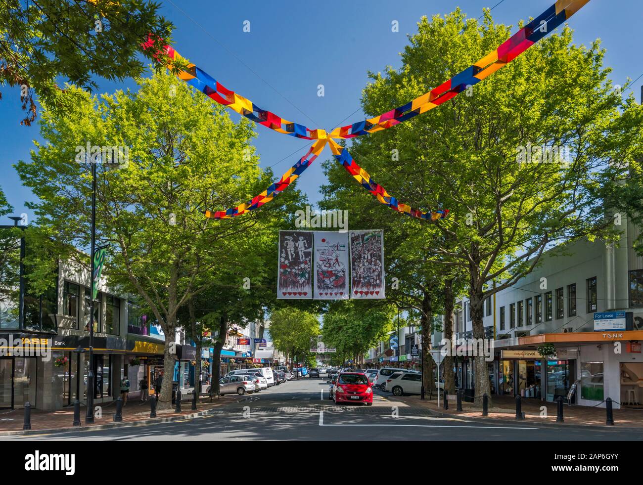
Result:
<svg viewBox="0 0 643 485"><path fill-rule="evenodd" d="M349 231L350 297L385 298L384 232Z"/></svg>

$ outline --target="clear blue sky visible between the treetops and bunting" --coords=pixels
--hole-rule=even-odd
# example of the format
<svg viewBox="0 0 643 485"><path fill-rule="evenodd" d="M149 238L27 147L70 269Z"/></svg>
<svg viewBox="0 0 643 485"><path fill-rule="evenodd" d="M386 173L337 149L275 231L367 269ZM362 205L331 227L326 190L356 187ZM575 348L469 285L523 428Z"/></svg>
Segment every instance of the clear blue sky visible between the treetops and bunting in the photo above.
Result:
<svg viewBox="0 0 643 485"><path fill-rule="evenodd" d="M248 0L215 4L212 0L163 0L161 12L176 26L177 51L226 87L285 119L328 130L363 119L359 99L367 71L400 66L406 34L415 33L422 15L444 14L460 6L469 17L479 17L483 7L493 7L498 1ZM503 0L492 13L496 22L516 26L520 19L535 17L552 3ZM394 20L399 22L399 33L391 31ZM643 73L642 20L640 0L592 0L569 24L579 44L602 40L607 50L605 64L613 68L612 80L624 84L626 78L635 79ZM244 21L250 22L249 33L243 31ZM325 87L323 98L317 96L319 84ZM634 88L637 100L641 84L643 78ZM134 83L103 81L99 85L100 91L111 92ZM3 87L2 91L0 186L16 213L31 215L24 201L32 200L32 194L21 186L12 164L29 158L32 140L39 139L38 127L20 126L23 114L18 90ZM236 113L231 115L238 119ZM256 131L261 165L273 166L276 177L309 147L305 140L261 126ZM320 199L319 186L324 180L321 160L329 154L327 149L299 179L299 188L312 202ZM376 172L372 175L377 179Z"/></svg>

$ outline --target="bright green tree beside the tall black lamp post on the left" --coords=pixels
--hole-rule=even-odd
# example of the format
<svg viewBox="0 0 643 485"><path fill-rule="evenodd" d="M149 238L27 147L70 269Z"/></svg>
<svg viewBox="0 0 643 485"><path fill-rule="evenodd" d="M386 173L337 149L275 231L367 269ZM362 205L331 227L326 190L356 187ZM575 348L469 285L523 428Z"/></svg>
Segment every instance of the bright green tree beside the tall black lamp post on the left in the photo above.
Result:
<svg viewBox="0 0 643 485"><path fill-rule="evenodd" d="M221 283L208 278L219 271L228 270L226 284L240 287L246 275L231 269L255 251L248 234L262 231L271 208L221 221L204 218L203 211L248 200L272 174L258 167L249 121L233 123L222 107L167 73L138 82L136 93L100 98L69 87L69 95L82 103L65 117L45 109L40 123L47 143L36 143L32 162L16 168L37 196L29 205L37 224L60 243L87 247L92 159L82 150L87 143L129 149L120 170L98 166L97 241L109 244L110 283L138 293L163 328L165 375L171 375L168 344L177 312ZM272 209L287 200L277 198ZM169 406L170 380L165 381L161 401Z"/></svg>

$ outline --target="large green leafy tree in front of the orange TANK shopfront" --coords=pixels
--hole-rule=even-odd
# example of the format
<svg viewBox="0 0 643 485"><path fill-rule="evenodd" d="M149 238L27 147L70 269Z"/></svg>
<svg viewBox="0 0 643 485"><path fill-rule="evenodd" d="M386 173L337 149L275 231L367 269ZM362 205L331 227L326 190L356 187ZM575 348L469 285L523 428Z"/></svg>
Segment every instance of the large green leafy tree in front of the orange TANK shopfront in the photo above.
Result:
<svg viewBox="0 0 643 485"><path fill-rule="evenodd" d="M363 109L374 115L426 93L510 35L488 11L482 22L467 21L460 10L422 18L403 66L371 74ZM599 42L577 46L564 28L473 86L471 96L462 93L351 148L399 200L451 210L446 220L424 225L428 244L421 247L427 260L440 256L466 272L476 339L485 337L484 299L523 278L544 251L579 238L614 238L597 188L626 177L632 155L640 154L641 108L613 89L603 55ZM528 146L562 147L569 157L526 160L520 155ZM391 160L393 149L399 160ZM435 243L435 228L447 245ZM479 402L490 394L484 356L475 358L475 375Z"/></svg>

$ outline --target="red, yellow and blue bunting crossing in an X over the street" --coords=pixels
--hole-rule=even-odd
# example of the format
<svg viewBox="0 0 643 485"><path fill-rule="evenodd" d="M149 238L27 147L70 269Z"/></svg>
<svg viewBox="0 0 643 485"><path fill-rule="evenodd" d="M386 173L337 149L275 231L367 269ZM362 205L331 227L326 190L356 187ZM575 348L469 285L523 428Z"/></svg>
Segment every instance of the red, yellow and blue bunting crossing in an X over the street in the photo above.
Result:
<svg viewBox="0 0 643 485"><path fill-rule="evenodd" d="M224 87L224 85L217 82L215 78L208 75L208 73L202 69L199 69L195 64L188 64L188 70L181 71L181 73L178 74L179 78L206 94L206 96L217 101L217 103L227 106L242 116L255 121L255 123L275 130L276 132L307 140L319 140L308 153L308 155L314 153L311 159L302 157L291 170L284 174L279 182L271 185L266 191L249 202L241 204L239 207L226 211L216 211L214 213L206 211L206 216L217 219L230 218L244 214L269 202L302 173L317 155L319 155L326 142L330 141L334 157L340 161L346 170L351 173L366 190L370 191L379 202L386 204L395 211L421 219L436 220L444 218L448 211L422 212L419 209L413 209L410 206L406 206L406 204L397 202L395 197L388 195L382 186L370 179L368 173L360 168L352 157L350 157L346 148L341 148L333 139L353 138L394 127L395 125L399 125L399 123L403 123L418 114L427 112L445 101L454 98L462 93L462 91L465 91L467 86L478 84L478 82L498 71L498 69L507 66L509 62L529 49L530 46L538 42L538 40L545 37L547 33L569 19L589 1L590 0L557 0L556 3L547 8L545 12L538 15L538 17L500 44L493 52L474 62L471 66L464 69L464 71L453 76L443 84L431 89L428 93L424 93L422 96L415 98L415 100L409 101L400 107L375 116L374 118L358 121L358 123L352 123L345 127L335 128L329 134L327 134L325 130L307 128L305 125L287 121L273 112L261 109L255 105L255 103L248 100L248 98L244 98L240 94ZM148 37L147 42L143 43L144 48L151 48L153 45L154 42L150 37ZM171 46L165 46L165 53L170 60L176 61L182 59L181 55ZM318 150L315 150L314 147L318 147Z"/></svg>

